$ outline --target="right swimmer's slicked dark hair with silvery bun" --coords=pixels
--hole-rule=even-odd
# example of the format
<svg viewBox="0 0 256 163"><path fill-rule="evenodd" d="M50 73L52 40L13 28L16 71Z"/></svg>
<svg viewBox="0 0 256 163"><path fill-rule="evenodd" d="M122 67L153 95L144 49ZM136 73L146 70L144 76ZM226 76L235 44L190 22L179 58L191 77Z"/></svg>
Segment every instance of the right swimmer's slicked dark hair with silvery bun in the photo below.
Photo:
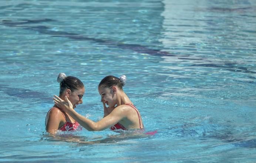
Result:
<svg viewBox="0 0 256 163"><path fill-rule="evenodd" d="M108 87L111 88L112 86L117 86L119 89L123 89L124 85L126 83L126 76L121 75L119 78L109 75L104 77L98 87Z"/></svg>

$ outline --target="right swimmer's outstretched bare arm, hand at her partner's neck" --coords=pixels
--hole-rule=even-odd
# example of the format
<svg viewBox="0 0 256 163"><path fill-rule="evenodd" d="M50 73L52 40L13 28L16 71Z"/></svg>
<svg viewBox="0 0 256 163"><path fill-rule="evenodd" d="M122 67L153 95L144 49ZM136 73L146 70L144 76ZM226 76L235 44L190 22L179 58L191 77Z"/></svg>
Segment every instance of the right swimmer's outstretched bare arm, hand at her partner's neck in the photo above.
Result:
<svg viewBox="0 0 256 163"><path fill-rule="evenodd" d="M125 117L125 109L123 109L122 107L116 107L109 115L102 118L98 122L94 122L78 114L73 109L73 105L68 100L67 96L65 96L66 101L63 101L58 96L54 97L55 98L53 98L53 100L58 107L60 107L63 111L67 112L72 118L75 119L75 121L77 121L81 126L89 131L104 130L111 127L112 125L115 125L117 122L121 121L121 119Z"/></svg>

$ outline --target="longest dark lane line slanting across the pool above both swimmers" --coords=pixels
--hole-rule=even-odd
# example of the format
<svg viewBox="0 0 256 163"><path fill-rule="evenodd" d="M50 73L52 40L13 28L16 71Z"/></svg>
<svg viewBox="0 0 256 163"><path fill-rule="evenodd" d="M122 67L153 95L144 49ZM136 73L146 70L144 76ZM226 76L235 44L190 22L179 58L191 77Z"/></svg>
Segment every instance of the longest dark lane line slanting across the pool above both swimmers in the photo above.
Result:
<svg viewBox="0 0 256 163"><path fill-rule="evenodd" d="M44 25L37 25L37 26L26 25L26 24L33 24L33 23L49 22L49 21L56 21L56 20L47 19L47 18L39 19L39 20L21 20L21 21L3 20L2 24L8 27L19 27L25 30L37 31L41 34L51 35L51 37L64 37L64 38L70 38L70 39L81 40L81 41L94 41L94 42L106 45L108 47L128 49L128 50L135 51L137 53L145 53L152 56L174 56L174 57L176 56L178 57L178 59L182 59L182 60L203 60L203 59L188 58L189 55L174 55L168 52L161 51L159 49L151 49L139 44L124 44L124 43L115 42L111 40L85 37L83 35L76 34L76 33L70 33L70 32L64 32L64 31L53 31L53 30L50 30L49 27ZM207 60L207 62L211 62L211 61ZM226 70L233 71L233 72L243 72L243 73L253 73L253 74L256 73L254 71L248 70L248 68L246 67L236 67L235 65L236 65L235 63L225 63L225 65L196 64L196 65L190 65L190 66L221 67L221 68L226 68Z"/></svg>

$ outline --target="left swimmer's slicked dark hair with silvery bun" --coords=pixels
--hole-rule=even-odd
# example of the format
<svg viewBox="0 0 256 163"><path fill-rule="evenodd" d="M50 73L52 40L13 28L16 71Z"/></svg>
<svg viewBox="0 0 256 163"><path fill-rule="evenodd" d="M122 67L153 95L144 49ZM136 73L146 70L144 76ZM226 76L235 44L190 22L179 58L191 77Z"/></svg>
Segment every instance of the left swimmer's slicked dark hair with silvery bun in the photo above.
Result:
<svg viewBox="0 0 256 163"><path fill-rule="evenodd" d="M80 79L74 76L66 76L64 73L59 73L57 81L60 83L60 95L63 94L66 89L75 91L84 87Z"/></svg>

